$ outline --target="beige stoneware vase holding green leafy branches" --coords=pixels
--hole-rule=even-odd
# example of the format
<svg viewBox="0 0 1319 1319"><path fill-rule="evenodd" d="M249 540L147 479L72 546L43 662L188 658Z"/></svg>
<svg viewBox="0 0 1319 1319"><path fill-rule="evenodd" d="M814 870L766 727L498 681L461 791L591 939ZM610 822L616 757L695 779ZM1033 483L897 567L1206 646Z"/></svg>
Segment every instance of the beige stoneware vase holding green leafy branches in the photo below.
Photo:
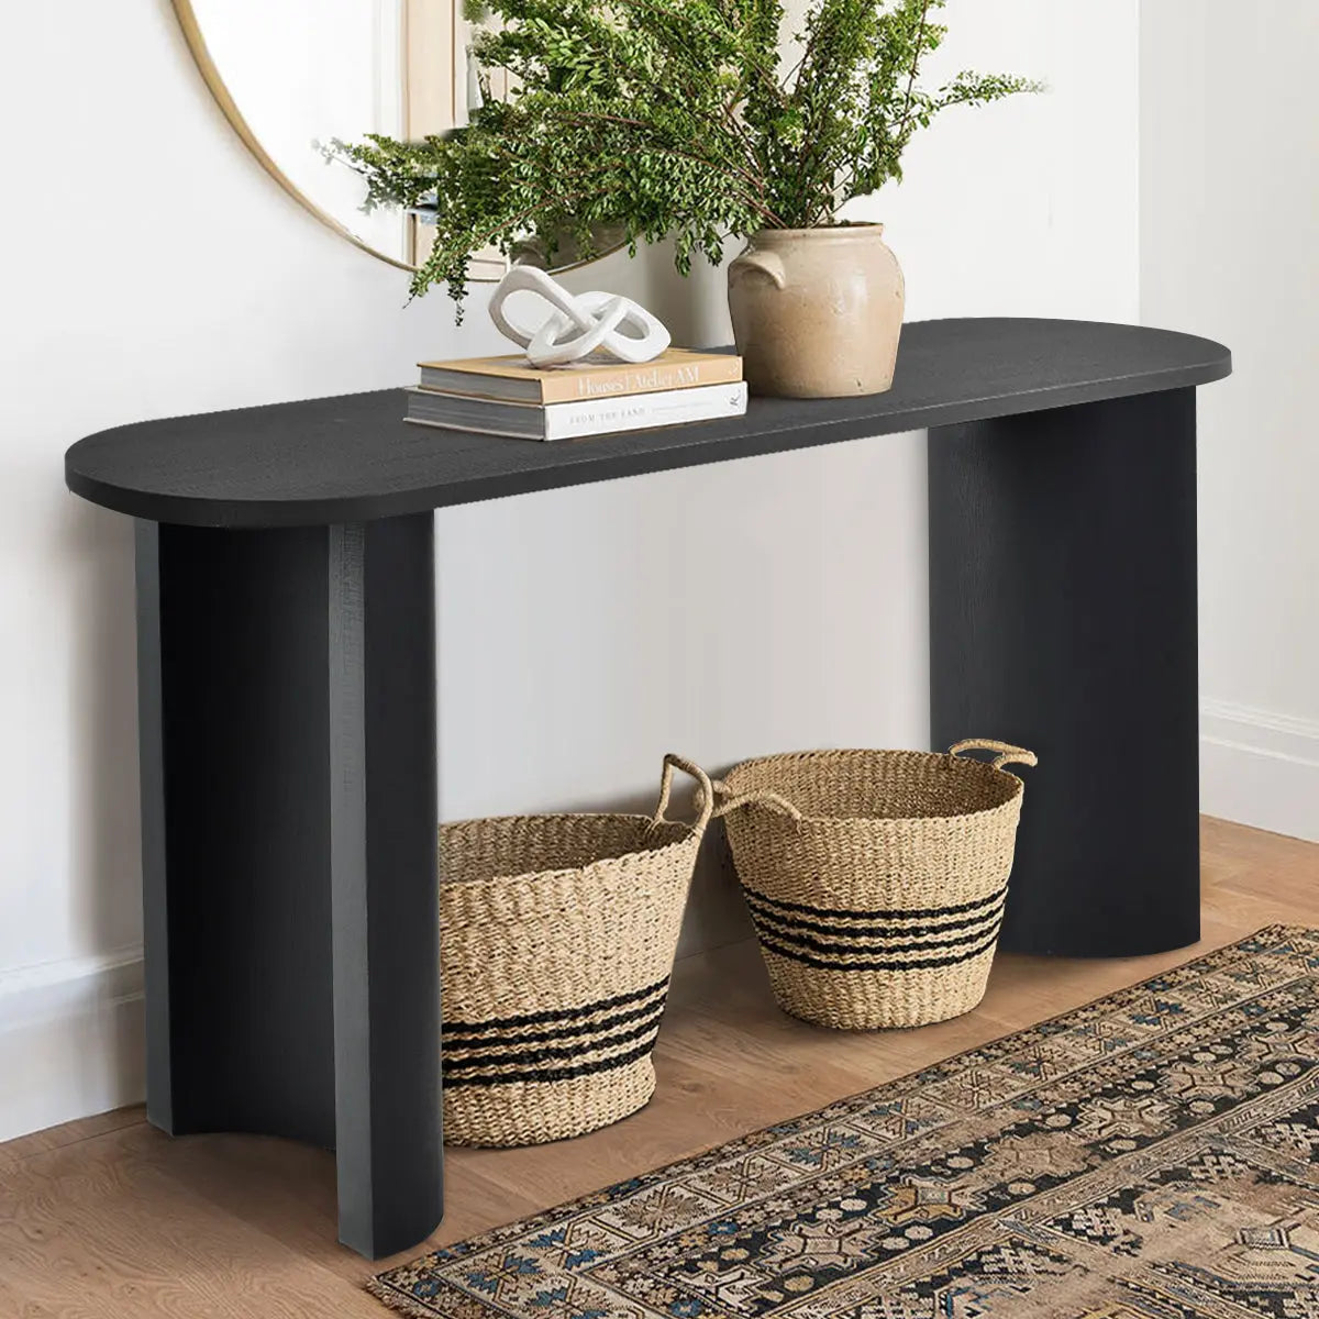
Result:
<svg viewBox="0 0 1319 1319"><path fill-rule="evenodd" d="M842 398L893 384L904 286L882 224L761 230L728 268L753 394Z"/></svg>

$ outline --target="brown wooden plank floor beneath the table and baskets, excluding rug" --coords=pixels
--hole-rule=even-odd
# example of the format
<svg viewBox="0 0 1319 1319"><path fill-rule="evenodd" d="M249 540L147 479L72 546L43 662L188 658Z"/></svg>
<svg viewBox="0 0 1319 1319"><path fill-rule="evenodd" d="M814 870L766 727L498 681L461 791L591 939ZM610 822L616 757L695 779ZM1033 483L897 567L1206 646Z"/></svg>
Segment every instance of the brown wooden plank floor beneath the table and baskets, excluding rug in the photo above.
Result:
<svg viewBox="0 0 1319 1319"><path fill-rule="evenodd" d="M686 959L652 1104L571 1144L451 1151L434 1244L819 1108L1262 925L1319 926L1319 845L1210 819L1203 842L1196 948L1122 962L1005 956L980 1008L923 1030L847 1035L785 1017L751 943ZM26 1136L0 1145L0 1315L383 1319L359 1290L375 1269L335 1244L334 1213L331 1155L284 1141L173 1141L141 1109Z"/></svg>

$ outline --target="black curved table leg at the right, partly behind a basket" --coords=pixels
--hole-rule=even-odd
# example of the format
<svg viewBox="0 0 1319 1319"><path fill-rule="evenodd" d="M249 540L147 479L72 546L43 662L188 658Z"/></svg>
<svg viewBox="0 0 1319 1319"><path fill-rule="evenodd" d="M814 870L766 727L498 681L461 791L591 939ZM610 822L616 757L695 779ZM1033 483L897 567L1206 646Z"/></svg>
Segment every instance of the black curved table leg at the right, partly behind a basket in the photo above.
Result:
<svg viewBox="0 0 1319 1319"><path fill-rule="evenodd" d="M929 462L934 745L1039 754L1002 947L1194 943L1194 389L931 429Z"/></svg>

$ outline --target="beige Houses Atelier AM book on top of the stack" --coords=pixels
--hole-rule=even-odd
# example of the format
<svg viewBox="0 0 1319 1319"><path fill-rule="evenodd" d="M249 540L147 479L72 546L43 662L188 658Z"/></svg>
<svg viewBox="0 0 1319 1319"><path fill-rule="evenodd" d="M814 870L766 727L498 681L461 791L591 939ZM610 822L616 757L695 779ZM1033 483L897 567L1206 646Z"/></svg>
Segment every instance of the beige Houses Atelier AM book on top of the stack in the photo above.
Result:
<svg viewBox="0 0 1319 1319"><path fill-rule="evenodd" d="M522 404L566 404L620 398L741 380L741 357L728 352L667 348L654 361L590 363L537 368L521 353L423 361L421 388Z"/></svg>

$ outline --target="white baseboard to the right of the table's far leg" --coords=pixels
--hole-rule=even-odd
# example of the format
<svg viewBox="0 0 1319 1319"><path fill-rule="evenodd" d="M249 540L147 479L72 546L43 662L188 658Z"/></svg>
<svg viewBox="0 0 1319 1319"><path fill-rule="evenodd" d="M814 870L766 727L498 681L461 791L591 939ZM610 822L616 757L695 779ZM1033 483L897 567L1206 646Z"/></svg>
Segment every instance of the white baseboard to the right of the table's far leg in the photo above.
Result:
<svg viewBox="0 0 1319 1319"><path fill-rule="evenodd" d="M1319 721L1203 700L1200 810L1319 843Z"/></svg>

